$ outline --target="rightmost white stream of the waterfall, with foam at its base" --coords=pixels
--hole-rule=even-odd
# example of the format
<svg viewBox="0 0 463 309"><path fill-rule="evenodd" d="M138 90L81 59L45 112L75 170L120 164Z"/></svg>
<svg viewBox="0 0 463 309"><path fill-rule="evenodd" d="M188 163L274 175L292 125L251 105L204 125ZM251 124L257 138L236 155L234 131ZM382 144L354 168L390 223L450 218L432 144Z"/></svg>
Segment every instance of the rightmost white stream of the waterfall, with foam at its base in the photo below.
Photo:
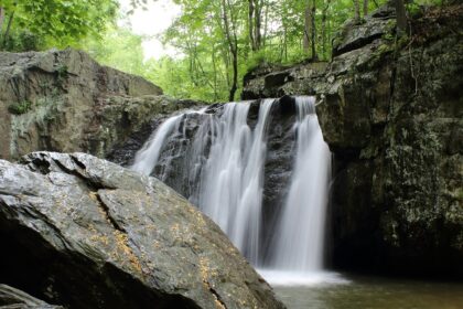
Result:
<svg viewBox="0 0 463 309"><path fill-rule="evenodd" d="M313 97L297 97L295 162L277 224L272 262L261 275L273 285L345 283L323 270L324 226L331 154L323 140Z"/></svg>

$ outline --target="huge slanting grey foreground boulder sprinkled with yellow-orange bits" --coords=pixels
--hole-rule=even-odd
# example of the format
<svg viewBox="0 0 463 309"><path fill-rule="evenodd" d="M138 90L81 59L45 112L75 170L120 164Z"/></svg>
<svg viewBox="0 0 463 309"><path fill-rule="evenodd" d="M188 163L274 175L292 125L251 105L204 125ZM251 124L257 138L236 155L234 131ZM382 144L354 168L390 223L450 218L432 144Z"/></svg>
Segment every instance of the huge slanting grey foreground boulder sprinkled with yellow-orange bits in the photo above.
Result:
<svg viewBox="0 0 463 309"><path fill-rule="evenodd" d="M177 193L84 153L0 160L0 281L68 308L283 308Z"/></svg>

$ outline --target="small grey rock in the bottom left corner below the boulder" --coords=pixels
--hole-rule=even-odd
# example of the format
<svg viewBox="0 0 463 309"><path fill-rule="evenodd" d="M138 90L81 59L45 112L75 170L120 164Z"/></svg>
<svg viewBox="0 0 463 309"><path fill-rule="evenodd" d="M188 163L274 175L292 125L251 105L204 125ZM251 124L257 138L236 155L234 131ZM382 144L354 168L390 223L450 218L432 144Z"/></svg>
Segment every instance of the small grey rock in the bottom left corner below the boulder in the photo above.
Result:
<svg viewBox="0 0 463 309"><path fill-rule="evenodd" d="M49 305L26 292L7 285L0 285L0 308L2 309L62 309L61 306Z"/></svg>

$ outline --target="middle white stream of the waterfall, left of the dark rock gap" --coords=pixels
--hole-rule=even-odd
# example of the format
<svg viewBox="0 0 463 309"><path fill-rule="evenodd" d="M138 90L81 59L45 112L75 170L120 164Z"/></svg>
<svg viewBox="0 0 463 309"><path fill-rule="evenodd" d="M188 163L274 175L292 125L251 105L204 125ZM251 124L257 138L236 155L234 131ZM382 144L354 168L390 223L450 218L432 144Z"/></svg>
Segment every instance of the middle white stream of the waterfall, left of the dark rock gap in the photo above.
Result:
<svg viewBox="0 0 463 309"><path fill-rule="evenodd" d="M257 264L268 115L273 99L260 106L254 131L247 125L249 104L228 104L214 126L198 205Z"/></svg>

